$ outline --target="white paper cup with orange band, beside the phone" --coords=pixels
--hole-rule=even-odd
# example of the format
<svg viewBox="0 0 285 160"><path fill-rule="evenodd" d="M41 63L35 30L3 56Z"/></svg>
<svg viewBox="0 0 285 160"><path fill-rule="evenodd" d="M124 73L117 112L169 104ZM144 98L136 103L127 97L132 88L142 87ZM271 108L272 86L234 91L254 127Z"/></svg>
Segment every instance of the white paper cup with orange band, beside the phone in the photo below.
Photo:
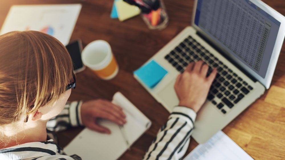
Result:
<svg viewBox="0 0 285 160"><path fill-rule="evenodd" d="M109 80L119 71L119 66L108 42L96 40L89 43L82 51L82 62L98 77Z"/></svg>

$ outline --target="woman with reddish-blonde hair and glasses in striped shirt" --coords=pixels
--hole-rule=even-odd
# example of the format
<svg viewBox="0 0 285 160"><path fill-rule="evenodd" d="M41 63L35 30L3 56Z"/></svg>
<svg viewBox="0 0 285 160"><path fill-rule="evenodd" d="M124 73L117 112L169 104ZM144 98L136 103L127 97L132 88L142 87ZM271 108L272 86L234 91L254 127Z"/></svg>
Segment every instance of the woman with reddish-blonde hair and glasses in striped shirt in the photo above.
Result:
<svg viewBox="0 0 285 160"><path fill-rule="evenodd" d="M110 133L96 124L97 118L120 125L126 122L122 108L109 101L67 102L76 87L72 61L52 36L37 31L1 35L0 56L0 159L80 159L64 155L50 130L84 125ZM184 155L196 112L215 77L216 70L206 77L207 70L200 61L178 76L175 90L180 106L158 132L144 159Z"/></svg>

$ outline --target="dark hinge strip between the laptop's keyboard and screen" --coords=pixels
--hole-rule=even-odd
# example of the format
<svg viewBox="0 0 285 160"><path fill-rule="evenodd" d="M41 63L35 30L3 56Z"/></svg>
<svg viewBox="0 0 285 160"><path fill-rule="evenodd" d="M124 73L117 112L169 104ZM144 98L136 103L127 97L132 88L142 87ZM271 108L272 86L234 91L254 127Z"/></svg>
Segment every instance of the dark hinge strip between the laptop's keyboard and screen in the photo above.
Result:
<svg viewBox="0 0 285 160"><path fill-rule="evenodd" d="M207 38L205 38L205 36L203 36L203 34L201 34L200 32L196 32L196 34L202 38L204 41L206 41L209 45L211 45L211 47L213 47L217 52L221 53L226 59L230 59L229 56L227 56L227 54L225 54L225 52L223 52L221 49L219 49L214 43L212 43L211 41L207 40ZM241 70L245 75L247 75L253 82L257 82L257 79L255 79L252 75L250 75L245 69L243 69L238 63L231 61L231 63L233 63L233 65L235 65L237 68L239 68L239 70Z"/></svg>

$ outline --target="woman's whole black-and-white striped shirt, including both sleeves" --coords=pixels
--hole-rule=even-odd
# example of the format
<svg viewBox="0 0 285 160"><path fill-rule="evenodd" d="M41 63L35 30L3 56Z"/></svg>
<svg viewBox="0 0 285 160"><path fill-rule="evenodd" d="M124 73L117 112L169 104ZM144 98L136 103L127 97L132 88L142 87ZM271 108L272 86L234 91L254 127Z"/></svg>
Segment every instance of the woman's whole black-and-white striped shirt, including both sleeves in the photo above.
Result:
<svg viewBox="0 0 285 160"><path fill-rule="evenodd" d="M0 149L0 159L80 160L78 155L65 155L57 144L54 131L82 126L81 104L81 101L66 103L64 110L48 121L47 141L29 142ZM168 121L158 131L143 159L181 159L188 148L195 119L196 113L192 109L175 107Z"/></svg>

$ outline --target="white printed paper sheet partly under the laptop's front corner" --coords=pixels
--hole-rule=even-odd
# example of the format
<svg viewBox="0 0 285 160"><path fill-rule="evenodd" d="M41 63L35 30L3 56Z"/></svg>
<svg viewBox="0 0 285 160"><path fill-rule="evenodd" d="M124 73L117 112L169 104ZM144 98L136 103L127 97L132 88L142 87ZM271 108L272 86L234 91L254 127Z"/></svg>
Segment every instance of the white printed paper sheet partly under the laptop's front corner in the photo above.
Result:
<svg viewBox="0 0 285 160"><path fill-rule="evenodd" d="M184 160L253 160L224 132L217 132L204 144L199 144Z"/></svg>

